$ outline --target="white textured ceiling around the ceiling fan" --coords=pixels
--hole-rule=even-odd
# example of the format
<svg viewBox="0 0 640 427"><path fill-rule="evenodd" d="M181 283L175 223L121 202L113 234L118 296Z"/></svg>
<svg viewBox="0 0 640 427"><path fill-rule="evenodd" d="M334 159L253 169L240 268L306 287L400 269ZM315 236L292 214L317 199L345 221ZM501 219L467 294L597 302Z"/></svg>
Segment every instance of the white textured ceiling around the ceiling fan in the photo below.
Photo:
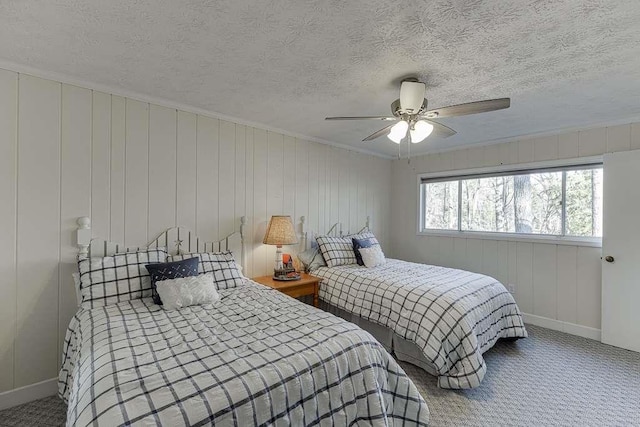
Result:
<svg viewBox="0 0 640 427"><path fill-rule="evenodd" d="M394 155L323 118L387 114L407 75L431 107L512 99L416 150L640 115L640 1L0 0L0 59Z"/></svg>

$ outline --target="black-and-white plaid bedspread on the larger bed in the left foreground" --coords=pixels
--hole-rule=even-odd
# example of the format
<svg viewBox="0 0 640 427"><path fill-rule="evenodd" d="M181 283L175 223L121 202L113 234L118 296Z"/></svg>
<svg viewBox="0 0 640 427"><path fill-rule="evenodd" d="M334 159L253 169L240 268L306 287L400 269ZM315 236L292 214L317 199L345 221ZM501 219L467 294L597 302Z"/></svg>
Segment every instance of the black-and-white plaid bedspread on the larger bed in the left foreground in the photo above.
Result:
<svg viewBox="0 0 640 427"><path fill-rule="evenodd" d="M66 334L67 425L426 425L367 332L247 281L215 305L81 309Z"/></svg>

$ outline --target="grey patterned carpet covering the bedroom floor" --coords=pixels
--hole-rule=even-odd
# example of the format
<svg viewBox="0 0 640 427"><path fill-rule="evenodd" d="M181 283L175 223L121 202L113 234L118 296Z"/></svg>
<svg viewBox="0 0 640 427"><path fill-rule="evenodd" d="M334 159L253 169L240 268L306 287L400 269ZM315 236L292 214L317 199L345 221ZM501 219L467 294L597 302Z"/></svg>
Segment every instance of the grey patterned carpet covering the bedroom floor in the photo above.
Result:
<svg viewBox="0 0 640 427"><path fill-rule="evenodd" d="M536 326L529 338L485 354L482 385L452 391L403 363L433 426L640 426L640 354ZM66 408L48 397L0 412L0 426L59 426Z"/></svg>

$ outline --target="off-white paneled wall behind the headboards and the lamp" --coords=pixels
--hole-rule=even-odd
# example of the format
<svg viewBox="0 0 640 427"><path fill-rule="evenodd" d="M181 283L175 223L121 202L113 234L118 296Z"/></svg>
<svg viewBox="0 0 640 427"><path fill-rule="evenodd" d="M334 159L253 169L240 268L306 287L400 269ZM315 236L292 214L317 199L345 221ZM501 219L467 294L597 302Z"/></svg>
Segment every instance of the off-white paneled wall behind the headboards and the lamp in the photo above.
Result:
<svg viewBox="0 0 640 427"><path fill-rule="evenodd" d="M0 391L57 376L77 217L144 245L176 225L218 240L244 215L255 276L274 214L318 231L371 216L384 244L390 183L389 160L0 70Z"/></svg>

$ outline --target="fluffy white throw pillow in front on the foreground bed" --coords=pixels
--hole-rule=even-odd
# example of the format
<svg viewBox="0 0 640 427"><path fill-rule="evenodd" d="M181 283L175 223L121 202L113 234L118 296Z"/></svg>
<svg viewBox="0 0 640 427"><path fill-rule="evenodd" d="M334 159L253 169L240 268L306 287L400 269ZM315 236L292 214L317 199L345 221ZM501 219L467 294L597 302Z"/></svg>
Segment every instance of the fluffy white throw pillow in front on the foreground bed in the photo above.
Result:
<svg viewBox="0 0 640 427"><path fill-rule="evenodd" d="M190 305L213 304L220 295L213 283L213 273L156 282L158 295L165 310L177 310Z"/></svg>

